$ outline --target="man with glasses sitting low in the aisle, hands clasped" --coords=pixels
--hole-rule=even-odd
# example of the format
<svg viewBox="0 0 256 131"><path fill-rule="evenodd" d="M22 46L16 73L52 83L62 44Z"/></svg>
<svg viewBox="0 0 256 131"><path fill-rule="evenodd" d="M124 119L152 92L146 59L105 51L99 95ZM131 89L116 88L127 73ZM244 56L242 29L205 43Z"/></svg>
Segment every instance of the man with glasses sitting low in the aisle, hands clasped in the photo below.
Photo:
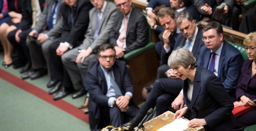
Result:
<svg viewBox="0 0 256 131"><path fill-rule="evenodd" d="M124 61L116 60L115 49L110 44L99 47L97 62L86 74L85 85L90 93L90 129L108 125L118 127L130 121L138 107L131 100L133 86Z"/></svg>

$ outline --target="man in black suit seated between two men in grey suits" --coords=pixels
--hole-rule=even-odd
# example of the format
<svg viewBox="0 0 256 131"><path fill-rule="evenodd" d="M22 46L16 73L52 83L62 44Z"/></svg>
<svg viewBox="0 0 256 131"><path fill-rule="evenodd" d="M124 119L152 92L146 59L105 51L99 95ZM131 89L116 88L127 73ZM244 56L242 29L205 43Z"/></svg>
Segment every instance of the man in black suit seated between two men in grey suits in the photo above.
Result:
<svg viewBox="0 0 256 131"><path fill-rule="evenodd" d="M73 84L66 68L63 66L61 56L78 47L85 38L85 32L89 25L89 11L93 5L89 0L64 0L60 4L61 13L61 39L59 42L50 44L50 67L52 79L58 81L49 91L54 95L53 99L58 100L74 91Z"/></svg>

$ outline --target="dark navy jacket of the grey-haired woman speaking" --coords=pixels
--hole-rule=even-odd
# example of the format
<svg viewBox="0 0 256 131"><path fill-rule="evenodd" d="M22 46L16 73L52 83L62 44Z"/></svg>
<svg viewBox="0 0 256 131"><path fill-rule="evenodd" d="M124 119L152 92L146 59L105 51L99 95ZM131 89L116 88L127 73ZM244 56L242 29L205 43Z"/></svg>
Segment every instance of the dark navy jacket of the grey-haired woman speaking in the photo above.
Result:
<svg viewBox="0 0 256 131"><path fill-rule="evenodd" d="M206 131L230 131L235 126L234 104L216 75L197 66L191 102L187 98L188 81L183 82L183 96L190 109L190 119L205 119Z"/></svg>

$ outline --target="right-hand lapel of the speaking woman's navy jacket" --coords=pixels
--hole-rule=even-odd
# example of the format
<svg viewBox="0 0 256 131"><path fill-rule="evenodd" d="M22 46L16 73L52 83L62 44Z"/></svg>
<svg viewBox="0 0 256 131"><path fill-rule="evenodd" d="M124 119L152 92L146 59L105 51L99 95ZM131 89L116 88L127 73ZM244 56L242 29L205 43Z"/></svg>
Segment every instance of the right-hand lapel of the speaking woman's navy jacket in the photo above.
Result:
<svg viewBox="0 0 256 131"><path fill-rule="evenodd" d="M197 70L195 71L194 87L193 87L192 99L190 104L191 107L194 105L195 100L197 99L197 96L201 90L201 86L199 85L200 78L201 78L201 71L202 69L200 67L198 67Z"/></svg>

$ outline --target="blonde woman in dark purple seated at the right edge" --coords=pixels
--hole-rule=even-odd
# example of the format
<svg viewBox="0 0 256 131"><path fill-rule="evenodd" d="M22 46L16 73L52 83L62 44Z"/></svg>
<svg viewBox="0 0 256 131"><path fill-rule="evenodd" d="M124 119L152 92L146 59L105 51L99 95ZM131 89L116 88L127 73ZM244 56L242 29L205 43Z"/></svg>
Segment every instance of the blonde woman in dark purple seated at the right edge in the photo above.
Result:
<svg viewBox="0 0 256 131"><path fill-rule="evenodd" d="M253 106L256 104L256 32L248 34L244 39L248 59L244 61L241 75L235 91L237 101L234 106ZM246 126L256 124L256 108L237 117L234 131L243 131Z"/></svg>

